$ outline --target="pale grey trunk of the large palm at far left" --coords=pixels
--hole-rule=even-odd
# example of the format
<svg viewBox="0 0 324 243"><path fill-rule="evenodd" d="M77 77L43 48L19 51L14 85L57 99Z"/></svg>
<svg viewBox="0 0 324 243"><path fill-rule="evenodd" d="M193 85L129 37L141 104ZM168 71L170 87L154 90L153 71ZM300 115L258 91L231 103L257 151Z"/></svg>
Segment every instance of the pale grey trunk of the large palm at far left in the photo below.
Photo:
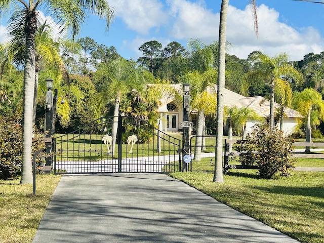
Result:
<svg viewBox="0 0 324 243"><path fill-rule="evenodd" d="M35 88L35 32L36 13L26 17L26 52L24 68L24 108L22 131L22 168L20 184L32 184L31 143L32 114Z"/></svg>

